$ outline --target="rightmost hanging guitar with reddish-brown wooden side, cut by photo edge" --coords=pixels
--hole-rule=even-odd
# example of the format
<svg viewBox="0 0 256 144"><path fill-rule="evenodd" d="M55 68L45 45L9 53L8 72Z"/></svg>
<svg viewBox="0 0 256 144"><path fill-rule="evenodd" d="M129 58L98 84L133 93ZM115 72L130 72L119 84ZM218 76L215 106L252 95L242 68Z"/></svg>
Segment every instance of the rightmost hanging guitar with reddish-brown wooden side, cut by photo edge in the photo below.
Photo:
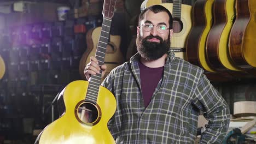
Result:
<svg viewBox="0 0 256 144"><path fill-rule="evenodd" d="M256 67L255 7L254 0L236 1L236 21L230 32L229 51L232 61L243 69Z"/></svg>

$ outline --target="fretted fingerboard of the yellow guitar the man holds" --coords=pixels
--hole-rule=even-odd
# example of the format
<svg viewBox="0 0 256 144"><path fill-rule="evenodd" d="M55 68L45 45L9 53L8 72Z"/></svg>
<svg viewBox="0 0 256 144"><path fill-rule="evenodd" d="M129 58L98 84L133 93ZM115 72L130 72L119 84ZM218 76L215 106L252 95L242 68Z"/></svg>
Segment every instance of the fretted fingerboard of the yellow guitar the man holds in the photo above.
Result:
<svg viewBox="0 0 256 144"><path fill-rule="evenodd" d="M101 27L101 34L100 34L100 38L98 39L98 45L97 45L97 50L95 55L95 57L98 59L98 65L100 66L104 63L106 48L109 40L111 22L112 22L112 19L109 19L108 17L104 17L102 27ZM100 71L100 74L91 75L85 101L92 101L96 103L98 89L100 88L100 84L101 84L101 75L102 75L102 70Z"/></svg>

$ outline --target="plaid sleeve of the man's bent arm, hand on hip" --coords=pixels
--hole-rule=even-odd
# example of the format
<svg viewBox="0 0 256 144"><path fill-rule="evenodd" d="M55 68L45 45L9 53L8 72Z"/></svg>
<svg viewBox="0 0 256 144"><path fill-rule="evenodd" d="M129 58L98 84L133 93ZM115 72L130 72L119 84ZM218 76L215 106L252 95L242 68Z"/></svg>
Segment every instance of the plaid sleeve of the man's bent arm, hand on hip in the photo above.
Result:
<svg viewBox="0 0 256 144"><path fill-rule="evenodd" d="M230 109L222 95L201 75L195 88L194 104L208 120L199 143L222 143L230 122Z"/></svg>

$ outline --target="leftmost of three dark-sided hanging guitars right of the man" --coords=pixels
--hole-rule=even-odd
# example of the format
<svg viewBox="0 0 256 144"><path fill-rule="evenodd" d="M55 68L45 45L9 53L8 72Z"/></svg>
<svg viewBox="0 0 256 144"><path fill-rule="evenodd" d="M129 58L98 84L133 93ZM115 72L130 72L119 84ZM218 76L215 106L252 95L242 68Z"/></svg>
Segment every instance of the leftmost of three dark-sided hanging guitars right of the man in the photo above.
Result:
<svg viewBox="0 0 256 144"><path fill-rule="evenodd" d="M214 72L214 70L206 61L205 53L207 35L212 26L213 2L214 0L197 0L195 2L193 7L193 26L188 35L186 49L190 63L210 72Z"/></svg>

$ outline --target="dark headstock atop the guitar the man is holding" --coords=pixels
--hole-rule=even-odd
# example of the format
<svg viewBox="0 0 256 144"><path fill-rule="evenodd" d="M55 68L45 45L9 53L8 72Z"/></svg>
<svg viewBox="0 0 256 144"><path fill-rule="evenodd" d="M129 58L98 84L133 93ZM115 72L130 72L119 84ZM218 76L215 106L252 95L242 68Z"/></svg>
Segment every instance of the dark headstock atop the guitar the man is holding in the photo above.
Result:
<svg viewBox="0 0 256 144"><path fill-rule="evenodd" d="M112 19L114 16L115 3L117 0L104 0L103 11L102 14L104 17L108 17Z"/></svg>

